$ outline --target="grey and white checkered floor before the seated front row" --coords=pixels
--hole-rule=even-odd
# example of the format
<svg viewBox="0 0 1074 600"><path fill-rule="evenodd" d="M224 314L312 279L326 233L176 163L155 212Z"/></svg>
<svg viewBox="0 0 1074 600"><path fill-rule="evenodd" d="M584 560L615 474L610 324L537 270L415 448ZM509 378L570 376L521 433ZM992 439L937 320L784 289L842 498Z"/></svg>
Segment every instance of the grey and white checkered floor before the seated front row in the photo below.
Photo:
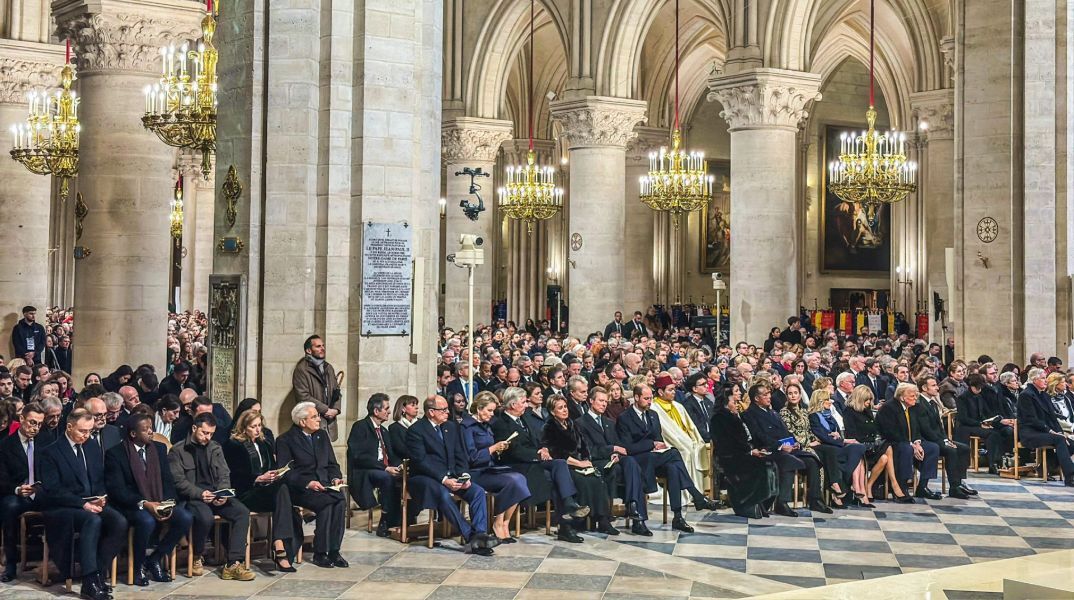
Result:
<svg viewBox="0 0 1074 600"><path fill-rule="evenodd" d="M800 511L798 518L749 523L728 511L692 511L686 516L694 533L659 525L659 508L653 507L654 536L643 541L628 533L585 535L585 543L567 544L541 530L488 558L463 554L453 541L429 550L351 530L344 541L349 569L305 564L280 575L259 564L253 582L180 575L172 584L136 590L120 584L116 598L744 598L1074 548L1074 491L1057 482L991 477L970 483L981 491L979 499L879 502L875 510L817 516ZM0 586L0 599L60 595L59 585ZM952 589L947 597L964 596Z"/></svg>

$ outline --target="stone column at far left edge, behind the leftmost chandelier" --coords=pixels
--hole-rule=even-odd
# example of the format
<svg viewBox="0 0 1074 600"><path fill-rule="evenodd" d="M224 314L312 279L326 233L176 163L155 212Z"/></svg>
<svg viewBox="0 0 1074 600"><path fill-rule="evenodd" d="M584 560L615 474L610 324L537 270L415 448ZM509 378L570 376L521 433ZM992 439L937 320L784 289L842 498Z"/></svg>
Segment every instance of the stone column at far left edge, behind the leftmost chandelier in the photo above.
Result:
<svg viewBox="0 0 1074 600"><path fill-rule="evenodd" d="M0 128L25 123L31 90L59 87L63 47L0 40ZM39 308L44 321L48 306L48 249L52 177L27 171L8 155L11 135L2 138L0 156L0 215L4 249L0 252L0 332L11 332L23 318L21 307ZM71 194L74 195L73 193ZM73 197L68 202L74 202ZM0 353L12 356L11 335L0 334Z"/></svg>

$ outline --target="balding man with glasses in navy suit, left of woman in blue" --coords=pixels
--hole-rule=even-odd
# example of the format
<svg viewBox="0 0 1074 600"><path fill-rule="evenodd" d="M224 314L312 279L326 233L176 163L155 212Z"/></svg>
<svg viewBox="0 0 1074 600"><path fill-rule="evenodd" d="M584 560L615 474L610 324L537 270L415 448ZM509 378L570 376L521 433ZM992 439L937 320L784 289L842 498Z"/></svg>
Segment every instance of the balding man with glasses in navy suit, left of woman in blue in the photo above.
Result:
<svg viewBox="0 0 1074 600"><path fill-rule="evenodd" d="M468 457L459 424L449 420L448 400L442 396L425 398L424 409L425 418L419 419L406 434L413 466L411 483L435 494L437 510L462 533L468 554L491 556L496 542L487 532L485 493L466 472ZM451 499L452 494L469 504L469 523Z"/></svg>

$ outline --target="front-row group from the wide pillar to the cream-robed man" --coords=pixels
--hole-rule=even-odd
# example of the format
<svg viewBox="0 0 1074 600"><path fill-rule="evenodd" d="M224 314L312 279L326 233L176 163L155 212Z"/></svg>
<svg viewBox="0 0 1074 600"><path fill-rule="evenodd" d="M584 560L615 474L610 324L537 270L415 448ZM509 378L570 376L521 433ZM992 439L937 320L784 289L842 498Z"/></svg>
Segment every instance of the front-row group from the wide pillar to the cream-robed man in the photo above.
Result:
<svg viewBox="0 0 1074 600"><path fill-rule="evenodd" d="M354 500L362 509L381 507L377 535L387 537L404 518L400 479L407 459L410 506L440 511L462 533L467 552L490 555L496 545L514 542L509 523L523 502L536 507L551 500L560 516L558 539L579 543L586 517L603 533L620 533L612 525L611 498L622 498L632 533L652 536L647 495L657 492L661 477L674 513L672 527L693 531L682 514L683 494L698 510L716 503L697 489L682 456L664 441L652 398L648 385L638 386L633 409L613 422L605 416L608 392L600 386L589 391L577 419L560 394L535 410L523 389L508 387L502 399L479 393L470 414L456 422L442 396L425 399L424 418L418 399L403 396L388 426L389 398L374 394L368 415L352 426L347 442ZM495 497L492 535L487 494ZM468 522L452 496L469 504Z"/></svg>

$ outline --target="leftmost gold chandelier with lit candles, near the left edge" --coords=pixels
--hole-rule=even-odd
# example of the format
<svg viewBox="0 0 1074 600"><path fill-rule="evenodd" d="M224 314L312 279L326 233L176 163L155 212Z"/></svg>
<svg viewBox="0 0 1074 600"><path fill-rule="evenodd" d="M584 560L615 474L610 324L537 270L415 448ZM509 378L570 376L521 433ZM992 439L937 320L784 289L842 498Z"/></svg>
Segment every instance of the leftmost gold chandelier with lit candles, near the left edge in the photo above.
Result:
<svg viewBox="0 0 1074 600"><path fill-rule="evenodd" d="M78 175L78 98L71 91L75 79L71 64L71 41L67 42L67 63L60 72L60 86L49 96L37 90L29 94L26 122L11 126L11 158L31 173L60 179L60 200L70 193L71 178Z"/></svg>

